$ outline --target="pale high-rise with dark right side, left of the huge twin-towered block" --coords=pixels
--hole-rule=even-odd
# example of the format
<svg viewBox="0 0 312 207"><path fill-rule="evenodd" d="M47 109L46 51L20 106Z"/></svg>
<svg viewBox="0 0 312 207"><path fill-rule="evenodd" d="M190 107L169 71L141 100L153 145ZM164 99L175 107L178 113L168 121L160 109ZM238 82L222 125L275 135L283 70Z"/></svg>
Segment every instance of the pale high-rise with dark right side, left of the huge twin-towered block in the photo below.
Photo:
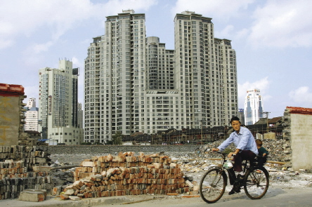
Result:
<svg viewBox="0 0 312 207"><path fill-rule="evenodd" d="M39 69L39 121L43 139L66 145L82 142L78 126L79 69L69 60L60 60L59 67Z"/></svg>

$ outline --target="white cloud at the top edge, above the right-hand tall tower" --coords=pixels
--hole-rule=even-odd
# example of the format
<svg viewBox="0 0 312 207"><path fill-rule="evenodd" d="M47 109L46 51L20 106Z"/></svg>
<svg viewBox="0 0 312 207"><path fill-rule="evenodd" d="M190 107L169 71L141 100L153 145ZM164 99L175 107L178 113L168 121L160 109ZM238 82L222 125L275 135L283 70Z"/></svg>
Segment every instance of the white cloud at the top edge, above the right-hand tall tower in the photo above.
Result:
<svg viewBox="0 0 312 207"><path fill-rule="evenodd" d="M175 15L183 11L195 11L206 17L228 20L240 15L240 11L247 9L253 2L254 0L178 0L172 13Z"/></svg>

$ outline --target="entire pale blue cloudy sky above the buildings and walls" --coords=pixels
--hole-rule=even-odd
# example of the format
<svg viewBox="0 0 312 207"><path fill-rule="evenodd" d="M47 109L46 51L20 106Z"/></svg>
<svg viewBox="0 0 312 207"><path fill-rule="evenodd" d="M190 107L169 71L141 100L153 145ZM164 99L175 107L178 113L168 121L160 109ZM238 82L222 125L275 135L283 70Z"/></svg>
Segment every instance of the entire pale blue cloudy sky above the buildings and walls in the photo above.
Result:
<svg viewBox="0 0 312 207"><path fill-rule="evenodd" d="M287 106L312 107L312 1L309 0L0 0L0 83L20 84L37 98L38 70L60 58L80 68L105 17L134 9L145 13L147 36L174 49L174 16L195 11L212 18L214 36L232 40L237 53L238 105L259 88L264 111L282 116ZM27 102L27 99L24 102Z"/></svg>

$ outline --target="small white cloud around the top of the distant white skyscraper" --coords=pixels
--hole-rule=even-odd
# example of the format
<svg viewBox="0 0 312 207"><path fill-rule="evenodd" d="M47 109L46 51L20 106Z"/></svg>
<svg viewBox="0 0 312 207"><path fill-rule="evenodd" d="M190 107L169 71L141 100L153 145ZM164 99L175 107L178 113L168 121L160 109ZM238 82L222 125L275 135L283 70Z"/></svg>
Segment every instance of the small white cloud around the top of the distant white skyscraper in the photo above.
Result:
<svg viewBox="0 0 312 207"><path fill-rule="evenodd" d="M270 100L271 95L267 95L266 91L270 86L270 81L268 81L268 77L266 76L264 79L260 79L259 81L254 81L253 83L249 83L249 81L244 84L238 84L238 107L243 107L245 102L246 92L249 89L258 88L262 95L262 98L266 101Z"/></svg>

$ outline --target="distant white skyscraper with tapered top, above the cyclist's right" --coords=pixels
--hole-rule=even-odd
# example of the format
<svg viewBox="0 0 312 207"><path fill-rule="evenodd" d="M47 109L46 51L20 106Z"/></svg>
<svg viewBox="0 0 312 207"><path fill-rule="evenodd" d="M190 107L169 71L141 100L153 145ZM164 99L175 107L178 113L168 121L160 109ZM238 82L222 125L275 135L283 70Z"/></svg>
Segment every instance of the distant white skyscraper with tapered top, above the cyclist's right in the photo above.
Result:
<svg viewBox="0 0 312 207"><path fill-rule="evenodd" d="M264 117L264 104L259 89L247 91L245 98L245 124L252 125Z"/></svg>

